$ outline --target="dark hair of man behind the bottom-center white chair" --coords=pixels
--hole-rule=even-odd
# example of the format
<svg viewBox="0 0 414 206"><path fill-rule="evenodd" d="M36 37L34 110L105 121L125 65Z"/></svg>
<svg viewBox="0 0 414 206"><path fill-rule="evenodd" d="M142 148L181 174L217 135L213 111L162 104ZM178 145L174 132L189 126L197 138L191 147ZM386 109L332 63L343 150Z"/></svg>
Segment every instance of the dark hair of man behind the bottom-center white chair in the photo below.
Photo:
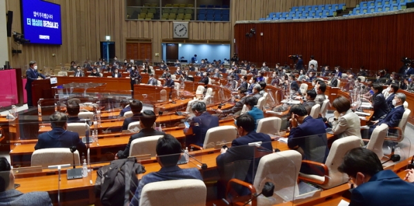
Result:
<svg viewBox="0 0 414 206"><path fill-rule="evenodd" d="M165 134L158 139L155 151L157 151L159 161L164 167L177 165L181 155L181 144L174 136Z"/></svg>

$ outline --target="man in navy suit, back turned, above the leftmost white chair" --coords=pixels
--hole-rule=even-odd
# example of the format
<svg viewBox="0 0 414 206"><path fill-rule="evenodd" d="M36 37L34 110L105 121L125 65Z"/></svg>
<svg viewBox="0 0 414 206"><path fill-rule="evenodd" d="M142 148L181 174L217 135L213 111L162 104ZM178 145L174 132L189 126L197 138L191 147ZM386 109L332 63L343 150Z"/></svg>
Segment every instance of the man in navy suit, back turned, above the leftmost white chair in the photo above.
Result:
<svg viewBox="0 0 414 206"><path fill-rule="evenodd" d="M79 134L67 131L66 127L68 117L64 113L55 112L50 115L50 126L52 131L41 133L38 136L37 143L34 149L46 149L46 148L57 148L57 147L69 147L76 146L79 154L86 153L86 146L79 139Z"/></svg>

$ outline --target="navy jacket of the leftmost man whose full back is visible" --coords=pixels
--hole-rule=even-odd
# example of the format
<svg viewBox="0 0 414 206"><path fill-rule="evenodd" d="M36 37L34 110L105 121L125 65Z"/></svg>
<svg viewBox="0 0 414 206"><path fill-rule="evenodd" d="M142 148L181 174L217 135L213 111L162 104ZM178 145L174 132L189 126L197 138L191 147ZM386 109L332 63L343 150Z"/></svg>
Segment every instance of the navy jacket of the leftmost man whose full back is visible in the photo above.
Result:
<svg viewBox="0 0 414 206"><path fill-rule="evenodd" d="M86 146L79 139L78 133L66 131L61 127L55 127L51 131L41 133L37 137L34 149L58 148L76 146L79 154L86 153Z"/></svg>

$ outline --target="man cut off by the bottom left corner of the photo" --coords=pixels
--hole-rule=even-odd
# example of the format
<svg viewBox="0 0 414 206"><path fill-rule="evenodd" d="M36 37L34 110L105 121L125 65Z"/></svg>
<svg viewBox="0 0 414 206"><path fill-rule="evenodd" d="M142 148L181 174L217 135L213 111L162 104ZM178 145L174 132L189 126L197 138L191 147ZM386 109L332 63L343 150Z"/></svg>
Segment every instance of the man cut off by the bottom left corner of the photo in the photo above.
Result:
<svg viewBox="0 0 414 206"><path fill-rule="evenodd" d="M33 205L52 206L46 191L34 191L26 194L14 189L14 174L10 163L4 157L0 158L0 205Z"/></svg>

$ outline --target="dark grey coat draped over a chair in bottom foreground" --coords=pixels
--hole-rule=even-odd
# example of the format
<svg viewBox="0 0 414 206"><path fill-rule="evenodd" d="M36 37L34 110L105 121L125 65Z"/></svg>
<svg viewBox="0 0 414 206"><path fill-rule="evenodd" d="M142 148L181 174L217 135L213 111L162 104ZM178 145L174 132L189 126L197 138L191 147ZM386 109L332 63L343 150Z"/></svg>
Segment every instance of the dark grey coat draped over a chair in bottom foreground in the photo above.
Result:
<svg viewBox="0 0 414 206"><path fill-rule="evenodd" d="M97 170L95 194L102 205L128 205L130 193L133 195L138 186L137 174L145 171L135 158L113 160Z"/></svg>

